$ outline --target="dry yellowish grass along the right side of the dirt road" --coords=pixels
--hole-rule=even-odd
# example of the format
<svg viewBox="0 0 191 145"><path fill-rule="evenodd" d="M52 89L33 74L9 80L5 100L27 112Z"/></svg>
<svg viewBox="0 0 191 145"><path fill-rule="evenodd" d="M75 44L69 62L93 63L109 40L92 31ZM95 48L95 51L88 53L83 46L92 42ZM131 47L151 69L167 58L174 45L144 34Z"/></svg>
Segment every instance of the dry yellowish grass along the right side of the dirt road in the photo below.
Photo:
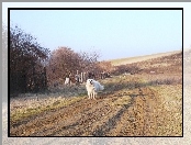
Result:
<svg viewBox="0 0 191 145"><path fill-rule="evenodd" d="M182 86L151 87L158 92L157 136L182 134Z"/></svg>

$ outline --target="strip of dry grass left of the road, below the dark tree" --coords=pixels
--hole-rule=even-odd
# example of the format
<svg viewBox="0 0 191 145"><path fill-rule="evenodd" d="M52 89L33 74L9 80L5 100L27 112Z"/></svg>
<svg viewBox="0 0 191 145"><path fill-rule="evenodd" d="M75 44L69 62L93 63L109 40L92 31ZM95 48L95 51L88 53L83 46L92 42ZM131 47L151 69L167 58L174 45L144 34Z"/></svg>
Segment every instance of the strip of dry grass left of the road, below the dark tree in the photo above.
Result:
<svg viewBox="0 0 191 145"><path fill-rule="evenodd" d="M70 96L60 96L60 93L61 92L50 93L48 96L27 93L22 94L20 98L11 99L11 122L18 122L24 118L30 118L45 111L57 110L85 98L82 94L80 94L81 97L74 96L70 98Z"/></svg>

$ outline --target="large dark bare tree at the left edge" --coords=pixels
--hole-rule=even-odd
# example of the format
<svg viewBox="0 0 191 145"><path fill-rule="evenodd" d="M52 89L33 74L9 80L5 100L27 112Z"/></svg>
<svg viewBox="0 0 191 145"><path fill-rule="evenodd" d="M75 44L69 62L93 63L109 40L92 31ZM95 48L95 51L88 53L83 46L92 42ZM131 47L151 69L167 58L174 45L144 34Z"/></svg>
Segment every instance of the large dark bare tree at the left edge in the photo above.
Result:
<svg viewBox="0 0 191 145"><path fill-rule="evenodd" d="M36 38L18 27L10 31L10 91L38 91L45 89L43 63L48 58L48 48L42 47Z"/></svg>

